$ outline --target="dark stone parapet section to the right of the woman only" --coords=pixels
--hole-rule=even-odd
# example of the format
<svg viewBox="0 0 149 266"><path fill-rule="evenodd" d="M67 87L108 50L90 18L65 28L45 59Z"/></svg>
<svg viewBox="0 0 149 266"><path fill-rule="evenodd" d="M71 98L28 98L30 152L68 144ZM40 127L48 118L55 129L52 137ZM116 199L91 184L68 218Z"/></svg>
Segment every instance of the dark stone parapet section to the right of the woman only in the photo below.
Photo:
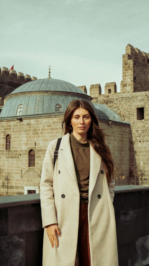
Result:
<svg viewBox="0 0 149 266"><path fill-rule="evenodd" d="M115 187L119 266L149 265L149 186Z"/></svg>

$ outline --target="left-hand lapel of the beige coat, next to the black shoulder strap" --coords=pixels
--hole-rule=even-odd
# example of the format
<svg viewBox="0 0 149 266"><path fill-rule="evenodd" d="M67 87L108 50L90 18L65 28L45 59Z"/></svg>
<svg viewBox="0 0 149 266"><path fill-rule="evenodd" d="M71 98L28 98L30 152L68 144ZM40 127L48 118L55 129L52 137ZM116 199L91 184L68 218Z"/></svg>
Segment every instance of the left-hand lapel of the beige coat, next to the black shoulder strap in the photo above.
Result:
<svg viewBox="0 0 149 266"><path fill-rule="evenodd" d="M60 143L59 153L61 155L65 168L69 171L69 174L78 189L75 165L74 165L71 146L70 146L70 134L69 133L63 136L61 143Z"/></svg>

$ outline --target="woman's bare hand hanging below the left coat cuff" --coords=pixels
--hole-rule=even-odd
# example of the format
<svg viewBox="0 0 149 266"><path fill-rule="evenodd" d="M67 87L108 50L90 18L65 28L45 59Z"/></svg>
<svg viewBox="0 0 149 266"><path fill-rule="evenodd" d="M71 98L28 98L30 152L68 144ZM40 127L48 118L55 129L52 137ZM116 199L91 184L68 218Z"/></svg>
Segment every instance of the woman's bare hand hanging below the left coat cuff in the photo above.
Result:
<svg viewBox="0 0 149 266"><path fill-rule="evenodd" d="M54 241L56 244L56 247L58 247L58 238L56 236L56 232L59 236L61 236L60 234L60 229L58 228L57 224L49 224L46 227L46 231L49 237L49 241L51 243L51 247L54 247Z"/></svg>

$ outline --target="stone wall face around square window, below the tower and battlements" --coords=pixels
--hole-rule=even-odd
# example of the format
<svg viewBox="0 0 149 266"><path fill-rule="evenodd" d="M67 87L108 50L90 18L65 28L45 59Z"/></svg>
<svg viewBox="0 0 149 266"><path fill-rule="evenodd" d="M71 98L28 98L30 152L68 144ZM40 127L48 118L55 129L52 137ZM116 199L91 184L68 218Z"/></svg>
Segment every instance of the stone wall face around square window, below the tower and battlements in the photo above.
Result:
<svg viewBox="0 0 149 266"><path fill-rule="evenodd" d="M148 92L113 93L99 95L93 102L106 104L116 110L125 121L131 123L130 133L130 174L137 165L144 173L143 184L149 184L149 94ZM144 107L144 119L137 120L137 108Z"/></svg>

